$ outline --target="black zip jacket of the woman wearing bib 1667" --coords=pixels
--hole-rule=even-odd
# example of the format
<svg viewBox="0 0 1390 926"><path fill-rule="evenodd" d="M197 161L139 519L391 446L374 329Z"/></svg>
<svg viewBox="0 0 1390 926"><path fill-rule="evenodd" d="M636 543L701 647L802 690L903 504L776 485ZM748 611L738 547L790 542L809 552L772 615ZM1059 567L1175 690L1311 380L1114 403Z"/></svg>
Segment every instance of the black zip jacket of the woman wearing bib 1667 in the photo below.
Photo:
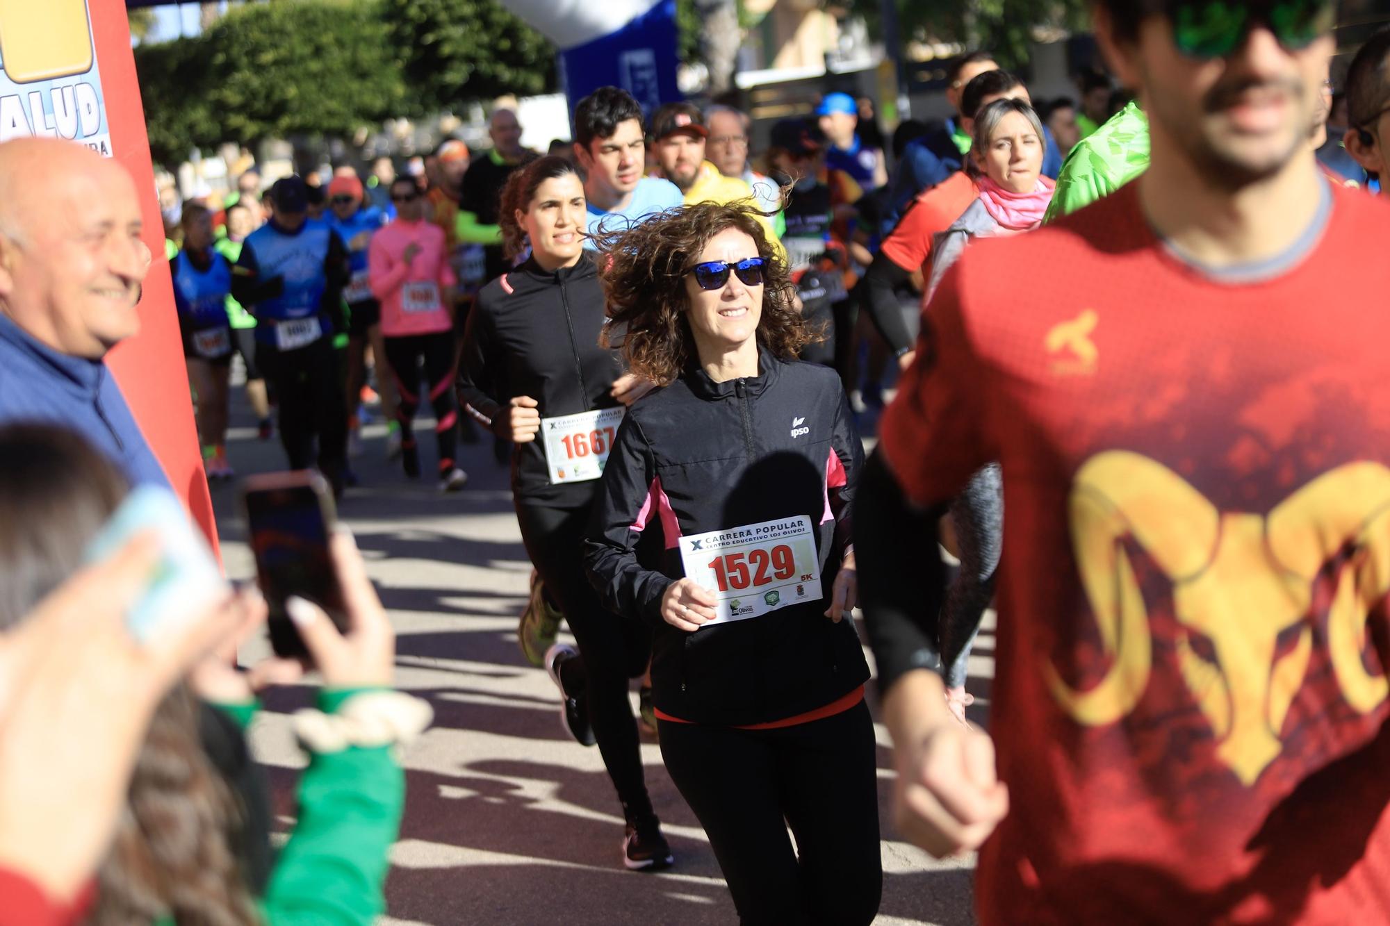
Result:
<svg viewBox="0 0 1390 926"><path fill-rule="evenodd" d="M528 395L542 419L610 409L623 375L616 350L599 346L606 316L598 267L580 263L548 273L535 260L498 277L468 313L459 366L459 405L500 437L512 399ZM521 501L578 507L598 481L550 485L541 435L512 450L512 491Z"/></svg>

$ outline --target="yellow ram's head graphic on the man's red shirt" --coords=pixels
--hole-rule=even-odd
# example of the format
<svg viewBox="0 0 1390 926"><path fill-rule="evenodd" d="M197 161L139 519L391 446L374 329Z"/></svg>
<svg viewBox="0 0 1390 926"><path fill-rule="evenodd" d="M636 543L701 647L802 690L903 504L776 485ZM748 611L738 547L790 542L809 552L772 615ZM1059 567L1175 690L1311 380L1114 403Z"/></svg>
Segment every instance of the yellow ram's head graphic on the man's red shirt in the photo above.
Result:
<svg viewBox="0 0 1390 926"><path fill-rule="evenodd" d="M1218 758L1243 784L1280 752L1312 653L1314 583L1339 552L1350 551L1327 617L1337 684L1361 713L1390 694L1362 660L1368 615L1390 591L1390 469L1340 466L1255 514L1218 510L1163 464L1109 450L1077 471L1069 509L1081 584L1111 660L1087 691L1047 665L1052 695L1079 723L1116 723L1148 685L1152 635L1126 538L1172 583L1183 681L1211 723ZM1277 653L1280 634L1300 624L1293 649ZM1194 637L1211 642L1213 662L1194 651Z"/></svg>

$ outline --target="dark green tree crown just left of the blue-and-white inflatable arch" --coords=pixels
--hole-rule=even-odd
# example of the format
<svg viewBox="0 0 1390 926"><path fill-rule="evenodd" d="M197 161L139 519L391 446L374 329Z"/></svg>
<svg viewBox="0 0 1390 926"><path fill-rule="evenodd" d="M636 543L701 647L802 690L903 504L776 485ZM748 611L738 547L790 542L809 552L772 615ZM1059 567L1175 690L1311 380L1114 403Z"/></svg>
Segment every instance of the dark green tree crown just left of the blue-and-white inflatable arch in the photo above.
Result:
<svg viewBox="0 0 1390 926"><path fill-rule="evenodd" d="M555 46L498 0L382 0L381 15L427 108L556 86Z"/></svg>

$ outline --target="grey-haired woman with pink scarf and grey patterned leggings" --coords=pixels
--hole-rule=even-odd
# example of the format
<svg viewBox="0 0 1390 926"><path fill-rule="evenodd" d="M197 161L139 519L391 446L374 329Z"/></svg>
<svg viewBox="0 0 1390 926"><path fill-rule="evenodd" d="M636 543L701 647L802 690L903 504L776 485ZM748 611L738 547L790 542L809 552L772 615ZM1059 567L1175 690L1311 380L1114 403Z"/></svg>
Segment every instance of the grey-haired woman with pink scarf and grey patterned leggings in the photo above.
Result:
<svg viewBox="0 0 1390 926"><path fill-rule="evenodd" d="M1042 224L1054 182L1042 177L1047 135L1037 113L1020 99L995 100L974 117L974 146L967 170L977 175L979 197L931 247L931 281L923 302L930 317L931 296L947 270L974 238L999 238ZM974 698L965 691L970 644L980 617L994 596L994 571L1004 542L1004 482L999 464L976 473L951 503L960 571L947 591L941 613L941 674L947 702L960 722Z"/></svg>

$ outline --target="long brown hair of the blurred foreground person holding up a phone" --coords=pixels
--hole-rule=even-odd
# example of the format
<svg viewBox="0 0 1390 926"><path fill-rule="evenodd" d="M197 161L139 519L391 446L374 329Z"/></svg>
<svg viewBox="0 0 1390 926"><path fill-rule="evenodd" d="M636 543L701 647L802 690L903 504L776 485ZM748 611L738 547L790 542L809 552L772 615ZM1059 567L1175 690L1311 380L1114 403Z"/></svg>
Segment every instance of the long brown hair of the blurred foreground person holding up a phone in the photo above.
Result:
<svg viewBox="0 0 1390 926"><path fill-rule="evenodd" d="M83 549L128 484L76 434L13 424L0 428L0 630L6 630L81 569ZM164 916L206 926L259 923L234 851L243 818L231 786L203 749L192 692L177 685L150 722L83 923L126 926Z"/></svg>

